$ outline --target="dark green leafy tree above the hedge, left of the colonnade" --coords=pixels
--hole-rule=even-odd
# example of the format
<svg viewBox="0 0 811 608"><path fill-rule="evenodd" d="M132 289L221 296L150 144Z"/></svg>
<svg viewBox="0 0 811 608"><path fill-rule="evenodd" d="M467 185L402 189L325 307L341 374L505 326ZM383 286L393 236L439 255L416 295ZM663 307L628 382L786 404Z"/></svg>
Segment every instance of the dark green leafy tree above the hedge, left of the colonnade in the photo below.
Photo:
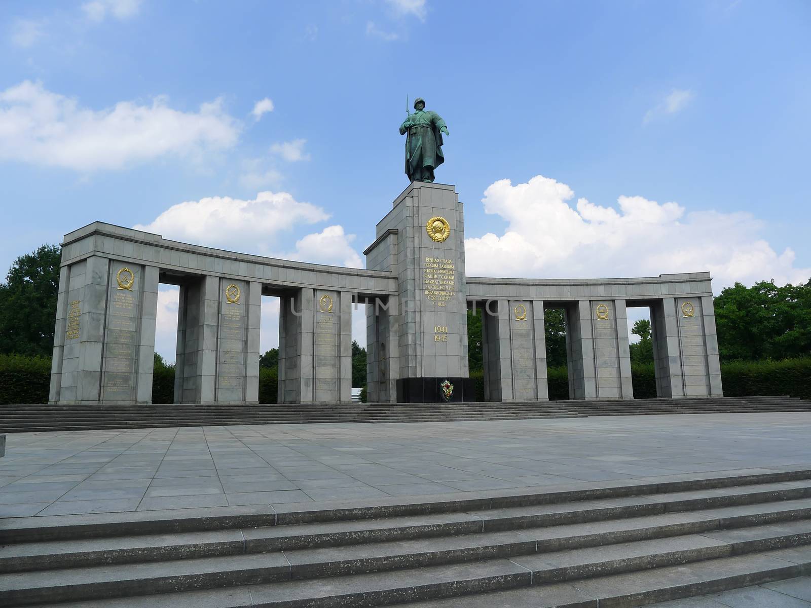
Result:
<svg viewBox="0 0 811 608"><path fill-rule="evenodd" d="M0 353L53 353L61 257L61 247L43 245L11 264L0 284Z"/></svg>

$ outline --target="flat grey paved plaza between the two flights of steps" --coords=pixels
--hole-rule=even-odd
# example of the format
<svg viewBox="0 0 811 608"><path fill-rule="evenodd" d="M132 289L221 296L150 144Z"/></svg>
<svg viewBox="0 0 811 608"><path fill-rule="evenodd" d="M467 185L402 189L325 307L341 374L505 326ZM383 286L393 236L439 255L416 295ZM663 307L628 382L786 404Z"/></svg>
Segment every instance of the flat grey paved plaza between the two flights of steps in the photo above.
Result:
<svg viewBox="0 0 811 608"><path fill-rule="evenodd" d="M401 499L811 466L811 413L8 435L0 516Z"/></svg>

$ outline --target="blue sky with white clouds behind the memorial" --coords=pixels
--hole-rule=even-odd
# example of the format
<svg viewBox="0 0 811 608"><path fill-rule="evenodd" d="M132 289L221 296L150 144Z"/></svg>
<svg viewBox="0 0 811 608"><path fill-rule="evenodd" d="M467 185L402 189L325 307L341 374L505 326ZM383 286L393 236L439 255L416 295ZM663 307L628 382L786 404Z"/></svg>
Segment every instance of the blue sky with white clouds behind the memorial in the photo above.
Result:
<svg viewBox="0 0 811 608"><path fill-rule="evenodd" d="M96 220L363 264L423 96L470 274L805 281L809 29L808 2L6 0L0 267Z"/></svg>

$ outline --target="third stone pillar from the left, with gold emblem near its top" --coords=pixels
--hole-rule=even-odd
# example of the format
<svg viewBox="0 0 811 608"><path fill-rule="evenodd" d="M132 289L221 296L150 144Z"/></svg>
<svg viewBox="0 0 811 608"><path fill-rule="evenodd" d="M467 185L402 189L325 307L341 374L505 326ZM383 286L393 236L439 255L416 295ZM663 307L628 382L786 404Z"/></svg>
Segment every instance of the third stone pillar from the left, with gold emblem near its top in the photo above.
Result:
<svg viewBox="0 0 811 608"><path fill-rule="evenodd" d="M302 288L280 306L280 403L351 403L352 294Z"/></svg>

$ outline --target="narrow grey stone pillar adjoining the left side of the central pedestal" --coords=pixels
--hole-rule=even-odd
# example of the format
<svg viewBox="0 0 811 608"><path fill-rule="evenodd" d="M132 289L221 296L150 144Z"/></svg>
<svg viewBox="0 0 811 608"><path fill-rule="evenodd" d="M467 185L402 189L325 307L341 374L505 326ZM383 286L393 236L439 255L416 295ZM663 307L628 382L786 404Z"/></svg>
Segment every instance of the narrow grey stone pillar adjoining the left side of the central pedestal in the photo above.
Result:
<svg viewBox="0 0 811 608"><path fill-rule="evenodd" d="M369 403L397 403L400 372L397 296L367 302L367 398Z"/></svg>

